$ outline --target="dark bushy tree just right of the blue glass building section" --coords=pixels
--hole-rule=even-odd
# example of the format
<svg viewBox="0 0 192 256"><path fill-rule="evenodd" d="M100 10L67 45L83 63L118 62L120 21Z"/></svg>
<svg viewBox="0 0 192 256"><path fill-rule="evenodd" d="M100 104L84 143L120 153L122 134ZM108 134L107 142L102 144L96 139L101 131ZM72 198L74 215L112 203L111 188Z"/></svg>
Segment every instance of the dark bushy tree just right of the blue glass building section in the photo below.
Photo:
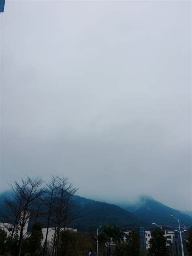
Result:
<svg viewBox="0 0 192 256"><path fill-rule="evenodd" d="M156 228L151 232L149 240L149 255L150 256L169 256L169 251L166 246L166 238L160 228Z"/></svg>

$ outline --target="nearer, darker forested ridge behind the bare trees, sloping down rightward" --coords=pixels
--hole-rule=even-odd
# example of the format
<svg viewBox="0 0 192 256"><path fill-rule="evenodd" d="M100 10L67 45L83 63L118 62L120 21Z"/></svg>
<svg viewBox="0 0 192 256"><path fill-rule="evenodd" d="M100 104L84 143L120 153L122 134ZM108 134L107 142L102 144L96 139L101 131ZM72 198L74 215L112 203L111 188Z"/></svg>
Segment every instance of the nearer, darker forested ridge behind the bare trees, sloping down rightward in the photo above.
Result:
<svg viewBox="0 0 192 256"><path fill-rule="evenodd" d="M10 191L0 194L0 211L5 213L3 198L10 198L12 196L13 194ZM79 218L70 223L69 226L71 228L77 228L79 231L95 231L98 226L107 224L122 227L147 226L139 217L115 204L98 202L80 196L74 196L74 198L77 200ZM1 221L3 219L0 216Z"/></svg>

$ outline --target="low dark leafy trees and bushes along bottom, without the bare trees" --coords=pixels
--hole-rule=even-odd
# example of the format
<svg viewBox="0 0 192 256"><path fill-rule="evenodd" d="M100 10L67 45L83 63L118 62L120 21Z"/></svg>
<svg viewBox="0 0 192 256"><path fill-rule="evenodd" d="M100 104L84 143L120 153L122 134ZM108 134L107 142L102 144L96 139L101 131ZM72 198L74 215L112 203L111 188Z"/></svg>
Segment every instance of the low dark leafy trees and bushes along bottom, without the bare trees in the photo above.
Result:
<svg viewBox="0 0 192 256"><path fill-rule="evenodd" d="M141 237L139 233L132 230L128 235L121 232L118 226L104 226L102 232L95 237L94 232L78 233L72 230L60 230L58 239L58 256L87 256L91 252L96 256L96 242L98 238L98 256L171 256L175 255L171 247L166 246L166 237L160 228L151 232L149 250L141 250ZM24 237L21 255L40 256L42 255L41 241L43 233L41 223L36 222L32 228L30 237ZM10 237L0 229L0 254L9 246ZM12 240L11 250L17 250L19 238L17 235ZM52 244L53 245L53 244ZM192 252L192 228L186 237L186 256ZM50 247L49 249L52 249ZM52 250L47 250L47 255L52 255ZM10 254L6 254L10 255ZM178 254L177 254L178 255ZM179 254L180 255L180 254Z"/></svg>

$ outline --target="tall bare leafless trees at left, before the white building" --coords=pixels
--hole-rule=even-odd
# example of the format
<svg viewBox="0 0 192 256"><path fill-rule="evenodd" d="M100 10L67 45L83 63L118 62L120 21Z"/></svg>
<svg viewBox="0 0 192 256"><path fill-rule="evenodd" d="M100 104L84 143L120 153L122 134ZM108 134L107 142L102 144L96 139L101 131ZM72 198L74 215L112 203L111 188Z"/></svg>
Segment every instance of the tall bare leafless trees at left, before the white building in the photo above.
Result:
<svg viewBox="0 0 192 256"><path fill-rule="evenodd" d="M21 179L18 183L9 183L13 198L4 198L6 213L3 214L4 222L11 223L7 226L10 233L7 252L11 253L11 245L18 236L18 252L21 256L23 237L26 235L29 221L36 223L41 219L46 227L45 243L41 255L46 255L47 237L49 227L55 229L52 255L58 256L58 243L61 229L78 217L76 201L73 195L77 189L68 182L67 178L51 176L47 182L41 177ZM6 227L6 226L5 226Z"/></svg>

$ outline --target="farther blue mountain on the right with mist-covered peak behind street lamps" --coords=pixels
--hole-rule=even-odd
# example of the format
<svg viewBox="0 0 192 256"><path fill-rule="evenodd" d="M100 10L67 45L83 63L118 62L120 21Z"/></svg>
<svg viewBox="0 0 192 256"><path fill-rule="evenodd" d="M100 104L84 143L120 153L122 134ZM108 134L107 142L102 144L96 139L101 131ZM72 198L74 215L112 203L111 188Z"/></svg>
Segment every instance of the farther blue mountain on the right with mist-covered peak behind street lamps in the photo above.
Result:
<svg viewBox="0 0 192 256"><path fill-rule="evenodd" d="M132 212L144 222L156 223L158 225L178 226L177 221L169 215L174 215L181 226L192 226L192 217L178 210L172 209L149 196L141 196L135 204L119 204L123 209Z"/></svg>

